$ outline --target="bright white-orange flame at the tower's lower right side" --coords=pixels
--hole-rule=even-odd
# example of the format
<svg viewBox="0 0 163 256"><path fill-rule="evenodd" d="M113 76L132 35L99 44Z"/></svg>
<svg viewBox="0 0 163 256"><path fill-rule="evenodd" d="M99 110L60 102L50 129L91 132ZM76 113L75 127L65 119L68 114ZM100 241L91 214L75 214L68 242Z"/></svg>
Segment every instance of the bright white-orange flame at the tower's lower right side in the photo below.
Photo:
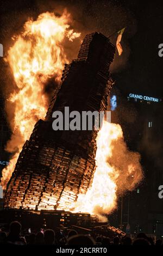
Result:
<svg viewBox="0 0 163 256"><path fill-rule="evenodd" d="M117 206L117 196L131 191L142 179L140 156L128 150L121 126L103 122L97 136L96 172L86 194L71 207L105 220ZM116 153L116 154L115 154Z"/></svg>

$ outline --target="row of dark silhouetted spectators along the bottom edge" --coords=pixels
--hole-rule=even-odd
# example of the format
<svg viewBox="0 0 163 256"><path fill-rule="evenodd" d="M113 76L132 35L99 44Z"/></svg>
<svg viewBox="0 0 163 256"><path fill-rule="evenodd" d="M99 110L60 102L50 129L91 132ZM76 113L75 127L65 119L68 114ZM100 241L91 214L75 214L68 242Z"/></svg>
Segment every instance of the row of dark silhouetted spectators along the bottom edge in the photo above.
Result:
<svg viewBox="0 0 163 256"><path fill-rule="evenodd" d="M28 233L22 231L22 225L18 221L10 223L9 231L0 229L0 244L1 245L48 245L48 246L65 246L65 245L85 245L85 246L162 246L162 240L158 239L154 241L153 237L148 237L145 233L139 233L132 239L129 236L110 237L102 235L91 235L91 234L78 234L77 230L70 229L65 235L64 232L59 231L55 233L53 229L41 229L39 232Z"/></svg>

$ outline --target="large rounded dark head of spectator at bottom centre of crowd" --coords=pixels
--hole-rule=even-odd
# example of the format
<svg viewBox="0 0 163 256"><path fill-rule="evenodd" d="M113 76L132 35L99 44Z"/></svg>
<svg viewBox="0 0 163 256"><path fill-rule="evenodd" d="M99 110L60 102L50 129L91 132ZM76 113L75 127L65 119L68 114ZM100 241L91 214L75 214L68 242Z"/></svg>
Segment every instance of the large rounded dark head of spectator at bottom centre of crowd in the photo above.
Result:
<svg viewBox="0 0 163 256"><path fill-rule="evenodd" d="M67 245L85 245L92 246L96 245L95 240L86 235L73 235L67 240Z"/></svg>

